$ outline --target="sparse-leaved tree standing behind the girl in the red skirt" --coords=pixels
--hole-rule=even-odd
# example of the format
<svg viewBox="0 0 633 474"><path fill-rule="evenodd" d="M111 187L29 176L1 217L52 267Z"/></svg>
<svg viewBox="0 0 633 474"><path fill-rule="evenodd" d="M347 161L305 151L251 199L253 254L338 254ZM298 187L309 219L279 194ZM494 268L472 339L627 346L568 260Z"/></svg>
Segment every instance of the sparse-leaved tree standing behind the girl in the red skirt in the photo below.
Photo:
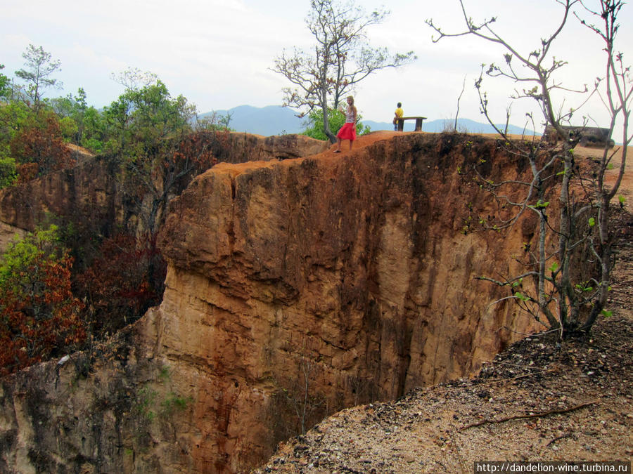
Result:
<svg viewBox="0 0 633 474"><path fill-rule="evenodd" d="M413 51L390 55L386 48L368 44L366 30L387 15L383 10L366 14L353 0L311 0L306 23L316 41L314 49L283 51L275 60L272 70L293 84L283 89L283 105L300 110L300 117L320 109L324 133L332 143L336 137L327 110L338 109L341 99L369 74L416 59Z"/></svg>

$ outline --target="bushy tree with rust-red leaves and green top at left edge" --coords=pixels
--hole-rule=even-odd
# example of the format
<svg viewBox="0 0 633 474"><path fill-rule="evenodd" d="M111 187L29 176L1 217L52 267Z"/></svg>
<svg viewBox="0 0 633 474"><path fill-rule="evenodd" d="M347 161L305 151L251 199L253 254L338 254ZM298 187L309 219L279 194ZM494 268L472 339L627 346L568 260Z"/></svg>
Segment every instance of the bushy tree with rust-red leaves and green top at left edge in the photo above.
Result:
<svg viewBox="0 0 633 474"><path fill-rule="evenodd" d="M70 290L72 258L58 228L28 234L0 262L0 373L76 350L86 332Z"/></svg>

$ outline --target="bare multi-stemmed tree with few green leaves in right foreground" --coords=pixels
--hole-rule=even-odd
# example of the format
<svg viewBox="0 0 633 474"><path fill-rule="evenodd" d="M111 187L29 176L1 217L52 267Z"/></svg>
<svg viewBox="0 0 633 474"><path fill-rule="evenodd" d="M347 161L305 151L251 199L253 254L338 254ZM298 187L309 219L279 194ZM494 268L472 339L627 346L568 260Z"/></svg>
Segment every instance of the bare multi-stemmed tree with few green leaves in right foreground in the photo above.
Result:
<svg viewBox="0 0 633 474"><path fill-rule="evenodd" d="M472 35L498 44L505 49L503 62L499 65L482 65L479 79L475 81L480 98L480 110L499 135L504 139L502 143L509 147L511 153L528 160L532 170L532 180L527 182L507 181L492 183L482 180L494 197L503 202L504 207L516 209L515 213L494 225L495 229L508 227L525 211L535 212L538 216L538 244L534 253L525 249L529 259L527 271L521 275L511 275L503 280L481 277L501 286L511 289L511 296L519 305L539 322L550 329L560 329L561 334L575 330L588 331L598 315L609 315L605 308L609 289L610 271L613 267L612 236L609 229L610 201L618 191L625 170L627 145L631 137L628 136L628 117L632 105L632 86L629 68L622 64L622 54L615 53L614 41L618 32L618 13L624 5L622 0L598 0L596 11L584 6L582 0L556 0L561 5L561 20L558 27L549 36L541 40L541 44L522 54L505 39L501 38L492 28L497 20L491 18L481 23L475 23L466 13L463 0L459 0L466 29L462 32L447 34L440 27L434 25L433 20L427 20L438 37L437 42L445 37L459 37ZM567 91L570 88L556 81L554 73L567 63L551 57L550 51L554 41L563 31L573 6L584 7L584 13L600 18L599 26L583 21L605 41L606 47L606 77L596 80L592 91L576 91L585 93L583 100L593 94L599 94L610 112L610 127L605 140L603 157L597 169L581 169L576 163L574 147L580 136L570 133L565 127L572 115L578 110L563 112L562 107L554 103L554 91ZM578 16L578 15L577 15ZM580 18L580 17L579 17ZM532 98L537 101L543 114L544 125L551 126L561 138L561 144L546 143L536 136L531 139L511 140L506 129L501 130L494 125L488 108L488 98L482 90L484 75L511 79L520 88L515 90L513 98ZM606 88L602 88L606 84ZM623 117L622 126L622 159L615 184L606 185L605 173L615 156L610 150L609 142L618 117ZM535 119L528 115L535 127ZM506 124L509 121L509 112ZM586 119L585 123L586 125ZM617 150L616 150L617 151ZM562 166L561 166L562 163ZM546 184L556 183L557 198L560 213L556 228L548 220L549 202L546 200ZM514 202L509 198L508 190L518 186L525 187L523 199ZM547 242L556 244L556 251L549 254ZM523 279L531 279L533 290L523 284ZM504 298L505 299L505 298ZM545 320L542 320L542 317Z"/></svg>

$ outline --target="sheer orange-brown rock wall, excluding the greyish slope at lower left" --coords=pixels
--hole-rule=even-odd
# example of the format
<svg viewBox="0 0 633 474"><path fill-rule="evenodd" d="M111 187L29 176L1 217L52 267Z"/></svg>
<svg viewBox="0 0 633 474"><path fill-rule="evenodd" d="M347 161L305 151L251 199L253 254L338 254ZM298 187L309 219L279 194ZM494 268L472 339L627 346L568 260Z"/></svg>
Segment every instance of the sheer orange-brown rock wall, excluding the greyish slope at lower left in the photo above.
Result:
<svg viewBox="0 0 633 474"><path fill-rule="evenodd" d="M459 170L528 171L511 160L494 140L408 134L196 178L161 232L153 316L162 357L196 378L208 437L192 456L242 470L274 448L276 421L296 424L280 393L296 405L307 387L315 413L392 399L464 376L516 338L508 329L528 331L516 306L490 305L507 293L475 277L507 272L531 225L463 232L493 203Z"/></svg>

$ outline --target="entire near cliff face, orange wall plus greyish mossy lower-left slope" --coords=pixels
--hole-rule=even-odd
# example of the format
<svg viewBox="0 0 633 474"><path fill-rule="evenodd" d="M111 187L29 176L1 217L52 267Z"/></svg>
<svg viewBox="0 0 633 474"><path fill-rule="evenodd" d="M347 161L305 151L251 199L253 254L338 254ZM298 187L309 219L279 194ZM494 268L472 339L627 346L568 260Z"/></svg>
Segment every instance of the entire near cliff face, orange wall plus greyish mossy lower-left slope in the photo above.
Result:
<svg viewBox="0 0 633 474"><path fill-rule="evenodd" d="M243 472L302 424L466 375L530 331L475 277L508 272L534 223L468 230L497 210L471 165L498 181L525 164L473 136L376 137L193 180L160 233L163 302L125 333L127 349L94 355L86 378L63 366L61 385L56 364L30 369L45 374L33 387L51 388L41 411L23 374L5 379L6 470L54 459L59 472ZM69 407L72 390L85 405ZM86 421L68 429L37 424L78 412Z"/></svg>

